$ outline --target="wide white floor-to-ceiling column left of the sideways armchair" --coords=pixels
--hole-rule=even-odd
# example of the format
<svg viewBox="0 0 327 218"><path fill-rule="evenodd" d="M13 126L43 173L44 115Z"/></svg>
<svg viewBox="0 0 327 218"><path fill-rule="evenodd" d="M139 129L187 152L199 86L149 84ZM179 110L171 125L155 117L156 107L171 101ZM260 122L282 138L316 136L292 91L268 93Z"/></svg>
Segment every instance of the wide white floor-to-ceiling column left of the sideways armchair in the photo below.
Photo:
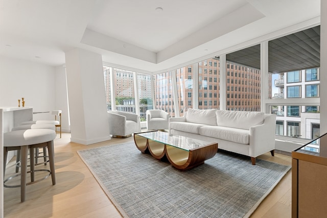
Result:
<svg viewBox="0 0 327 218"><path fill-rule="evenodd" d="M65 53L71 141L92 144L111 139L102 56L82 49Z"/></svg>

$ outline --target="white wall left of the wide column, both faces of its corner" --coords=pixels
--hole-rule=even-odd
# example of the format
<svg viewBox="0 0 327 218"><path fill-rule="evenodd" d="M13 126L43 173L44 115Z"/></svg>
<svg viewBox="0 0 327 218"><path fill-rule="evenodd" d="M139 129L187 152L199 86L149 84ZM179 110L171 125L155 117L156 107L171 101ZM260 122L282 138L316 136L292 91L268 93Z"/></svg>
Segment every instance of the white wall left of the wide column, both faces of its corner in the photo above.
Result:
<svg viewBox="0 0 327 218"><path fill-rule="evenodd" d="M69 132L64 67L0 56L0 107L33 107L33 119L54 119L52 110L62 110L62 130ZM20 106L21 101L20 101ZM59 130L59 129L58 129Z"/></svg>

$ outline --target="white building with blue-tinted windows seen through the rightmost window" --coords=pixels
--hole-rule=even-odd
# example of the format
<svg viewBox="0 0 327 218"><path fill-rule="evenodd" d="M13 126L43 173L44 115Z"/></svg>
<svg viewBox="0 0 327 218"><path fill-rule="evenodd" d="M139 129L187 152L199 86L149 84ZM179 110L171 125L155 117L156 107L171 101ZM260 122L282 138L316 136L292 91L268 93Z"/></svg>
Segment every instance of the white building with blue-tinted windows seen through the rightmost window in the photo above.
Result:
<svg viewBox="0 0 327 218"><path fill-rule="evenodd" d="M319 68L302 69L278 74L273 99L319 98ZM280 105L272 108L277 115L276 134L315 139L320 136L320 106Z"/></svg>

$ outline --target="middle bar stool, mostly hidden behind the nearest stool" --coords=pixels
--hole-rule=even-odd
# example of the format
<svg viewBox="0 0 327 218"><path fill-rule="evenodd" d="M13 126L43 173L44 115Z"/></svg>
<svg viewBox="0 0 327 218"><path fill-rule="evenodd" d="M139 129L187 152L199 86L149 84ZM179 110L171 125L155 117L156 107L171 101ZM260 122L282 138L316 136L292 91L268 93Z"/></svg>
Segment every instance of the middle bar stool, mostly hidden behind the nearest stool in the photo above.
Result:
<svg viewBox="0 0 327 218"><path fill-rule="evenodd" d="M28 130L28 129L50 129L56 131L56 126L54 124L26 124L26 125L21 125L17 126L11 129L11 131L17 131L17 130ZM38 163L38 158L41 157L39 156L39 149L35 149L35 164L42 164ZM44 165L46 165L46 148L43 148L43 160L44 160ZM16 173L19 171L19 162L20 162L20 150L17 150L17 155L16 155Z"/></svg>

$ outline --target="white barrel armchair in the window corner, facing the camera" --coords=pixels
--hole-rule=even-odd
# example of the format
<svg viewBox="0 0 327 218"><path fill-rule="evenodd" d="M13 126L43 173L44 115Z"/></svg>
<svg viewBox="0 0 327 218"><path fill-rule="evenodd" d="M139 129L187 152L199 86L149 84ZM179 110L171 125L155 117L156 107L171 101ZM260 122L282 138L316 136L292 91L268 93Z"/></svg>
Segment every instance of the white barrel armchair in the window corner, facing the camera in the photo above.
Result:
<svg viewBox="0 0 327 218"><path fill-rule="evenodd" d="M165 130L169 127L169 113L164 110L147 110L147 129Z"/></svg>

